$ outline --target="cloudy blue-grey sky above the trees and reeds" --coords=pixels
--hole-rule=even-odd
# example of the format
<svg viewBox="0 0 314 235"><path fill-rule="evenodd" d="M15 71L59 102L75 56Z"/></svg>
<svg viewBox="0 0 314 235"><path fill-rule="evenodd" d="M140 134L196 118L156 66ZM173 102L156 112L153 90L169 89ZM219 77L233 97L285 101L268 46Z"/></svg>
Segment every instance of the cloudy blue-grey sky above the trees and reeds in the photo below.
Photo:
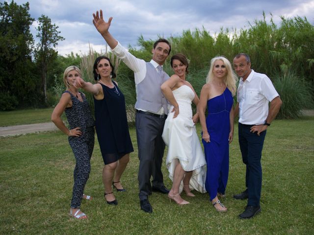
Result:
<svg viewBox="0 0 314 235"><path fill-rule="evenodd" d="M3 2L3 0L0 0ZM10 0L11 1L11 0ZM18 4L26 0L15 0ZM59 54L84 54L89 44L94 50L104 51L105 41L92 23L96 10L104 11L104 18L112 16L110 33L125 47L137 46L137 39L157 39L157 35L181 35L183 30L202 28L211 35L220 28L249 27L249 22L266 20L270 13L276 24L280 16L307 17L314 24L314 0L28 0L29 13L35 20L42 14L59 26L61 36ZM31 32L36 35L37 23Z"/></svg>

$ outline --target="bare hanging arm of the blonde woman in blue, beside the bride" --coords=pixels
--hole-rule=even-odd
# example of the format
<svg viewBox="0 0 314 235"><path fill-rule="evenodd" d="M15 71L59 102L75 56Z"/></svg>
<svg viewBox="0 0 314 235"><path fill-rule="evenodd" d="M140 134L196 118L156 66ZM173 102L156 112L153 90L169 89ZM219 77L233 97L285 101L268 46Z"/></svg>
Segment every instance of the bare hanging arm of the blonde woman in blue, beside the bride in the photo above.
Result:
<svg viewBox="0 0 314 235"><path fill-rule="evenodd" d="M197 110L200 116L200 122L201 122L202 132L203 132L202 138L206 142L210 142L210 137L207 130L206 118L205 118L205 110L206 110L207 101L209 98L209 86L210 86L209 84L205 84L202 87L201 95L200 95L200 102L197 105Z"/></svg>

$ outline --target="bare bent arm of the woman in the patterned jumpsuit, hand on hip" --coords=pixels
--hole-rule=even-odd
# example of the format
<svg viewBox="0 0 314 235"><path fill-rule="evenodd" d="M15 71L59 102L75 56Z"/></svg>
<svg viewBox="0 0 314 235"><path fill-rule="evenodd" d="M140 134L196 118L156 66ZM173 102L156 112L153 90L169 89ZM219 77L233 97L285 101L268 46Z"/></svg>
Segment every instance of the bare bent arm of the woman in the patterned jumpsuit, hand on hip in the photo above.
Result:
<svg viewBox="0 0 314 235"><path fill-rule="evenodd" d="M71 107L71 95L63 93L59 103L55 106L52 111L51 120L64 134L67 136L79 137L82 133L79 127L69 130L63 123L61 115L63 114L66 107Z"/></svg>

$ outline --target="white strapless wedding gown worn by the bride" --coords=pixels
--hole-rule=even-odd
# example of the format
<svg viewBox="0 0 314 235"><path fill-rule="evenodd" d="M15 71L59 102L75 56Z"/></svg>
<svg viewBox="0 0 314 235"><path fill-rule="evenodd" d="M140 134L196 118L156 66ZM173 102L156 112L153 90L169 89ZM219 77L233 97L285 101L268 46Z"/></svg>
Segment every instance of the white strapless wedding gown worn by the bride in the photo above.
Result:
<svg viewBox="0 0 314 235"><path fill-rule="evenodd" d="M204 193L206 160L192 120L191 103L194 92L186 85L172 92L179 104L179 115L173 118L171 106L162 133L162 139L168 145L166 165L169 178L173 181L175 167L180 162L185 171L193 171L189 187ZM180 185L180 192L182 190L183 182Z"/></svg>

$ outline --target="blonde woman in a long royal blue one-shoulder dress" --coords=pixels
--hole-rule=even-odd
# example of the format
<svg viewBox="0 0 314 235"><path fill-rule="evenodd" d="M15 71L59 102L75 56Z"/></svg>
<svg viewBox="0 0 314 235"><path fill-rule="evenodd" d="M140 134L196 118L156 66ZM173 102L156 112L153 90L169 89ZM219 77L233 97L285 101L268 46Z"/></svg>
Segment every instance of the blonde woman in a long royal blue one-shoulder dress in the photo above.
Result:
<svg viewBox="0 0 314 235"><path fill-rule="evenodd" d="M229 144L234 133L235 82L236 76L228 59L223 56L213 58L198 104L207 162L205 187L216 211L223 212L227 211L227 208L218 196L224 196L228 182Z"/></svg>

